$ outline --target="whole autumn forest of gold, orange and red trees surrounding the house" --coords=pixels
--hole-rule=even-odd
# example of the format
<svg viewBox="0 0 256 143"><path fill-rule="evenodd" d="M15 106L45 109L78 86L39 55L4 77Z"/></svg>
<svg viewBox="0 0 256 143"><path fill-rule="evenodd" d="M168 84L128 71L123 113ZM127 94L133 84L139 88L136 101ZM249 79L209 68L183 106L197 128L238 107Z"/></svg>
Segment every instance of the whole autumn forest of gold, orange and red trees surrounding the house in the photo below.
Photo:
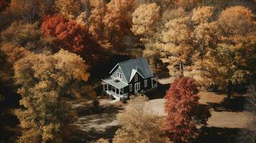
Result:
<svg viewBox="0 0 256 143"><path fill-rule="evenodd" d="M231 143L204 137L216 104L202 93L222 93L222 113L242 106L255 125L224 134L255 143L255 14L255 0L0 0L0 142ZM136 57L173 79L159 87L165 114L140 94L115 104L113 133L75 132L81 114L108 110L101 79Z"/></svg>

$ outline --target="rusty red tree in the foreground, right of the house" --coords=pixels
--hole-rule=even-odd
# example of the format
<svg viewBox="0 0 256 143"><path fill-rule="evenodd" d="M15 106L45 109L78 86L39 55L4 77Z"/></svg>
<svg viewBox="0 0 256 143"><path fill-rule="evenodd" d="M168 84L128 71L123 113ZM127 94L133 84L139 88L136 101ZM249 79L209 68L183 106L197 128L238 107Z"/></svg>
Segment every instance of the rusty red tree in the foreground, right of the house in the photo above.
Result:
<svg viewBox="0 0 256 143"><path fill-rule="evenodd" d="M199 127L206 125L211 117L209 109L199 104L198 92L194 79L181 77L171 84L164 97L167 113L164 130L174 142L189 142L197 137Z"/></svg>

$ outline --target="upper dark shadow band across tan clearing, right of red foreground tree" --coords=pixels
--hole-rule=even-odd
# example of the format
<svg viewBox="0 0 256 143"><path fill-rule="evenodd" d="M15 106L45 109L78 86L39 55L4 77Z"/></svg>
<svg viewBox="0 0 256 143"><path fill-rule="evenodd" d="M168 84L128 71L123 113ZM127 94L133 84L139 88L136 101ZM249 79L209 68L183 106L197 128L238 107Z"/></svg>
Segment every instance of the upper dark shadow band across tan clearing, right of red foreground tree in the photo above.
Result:
<svg viewBox="0 0 256 143"><path fill-rule="evenodd" d="M216 112L242 112L246 97L232 97L229 101L224 99L221 103L207 102L208 106Z"/></svg>

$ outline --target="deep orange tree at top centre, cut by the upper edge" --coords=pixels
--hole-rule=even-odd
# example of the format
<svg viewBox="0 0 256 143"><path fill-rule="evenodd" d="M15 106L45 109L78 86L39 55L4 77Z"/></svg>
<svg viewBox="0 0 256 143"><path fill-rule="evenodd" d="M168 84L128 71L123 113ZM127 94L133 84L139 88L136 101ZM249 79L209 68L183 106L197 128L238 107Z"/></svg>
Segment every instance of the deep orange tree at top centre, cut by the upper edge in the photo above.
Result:
<svg viewBox="0 0 256 143"><path fill-rule="evenodd" d="M91 0L90 16L85 22L93 39L105 49L123 50L124 38L131 34L134 0Z"/></svg>

